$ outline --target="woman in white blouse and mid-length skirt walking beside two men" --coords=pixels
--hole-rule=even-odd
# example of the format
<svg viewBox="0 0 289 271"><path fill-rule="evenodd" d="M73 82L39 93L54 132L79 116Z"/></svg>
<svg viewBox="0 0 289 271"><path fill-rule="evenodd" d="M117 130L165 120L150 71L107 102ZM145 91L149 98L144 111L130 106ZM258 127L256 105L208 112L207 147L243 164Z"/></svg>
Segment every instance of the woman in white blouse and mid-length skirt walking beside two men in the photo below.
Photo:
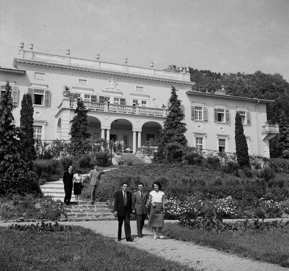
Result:
<svg viewBox="0 0 289 271"><path fill-rule="evenodd" d="M164 239L165 236L163 236L161 232L164 226L165 193L160 191L162 185L158 181L155 181L152 187L154 190L149 193L148 202L151 204L151 209L147 225L152 227L154 239L157 238L157 235L159 235L159 238ZM156 233L157 227L159 228L158 233Z"/></svg>

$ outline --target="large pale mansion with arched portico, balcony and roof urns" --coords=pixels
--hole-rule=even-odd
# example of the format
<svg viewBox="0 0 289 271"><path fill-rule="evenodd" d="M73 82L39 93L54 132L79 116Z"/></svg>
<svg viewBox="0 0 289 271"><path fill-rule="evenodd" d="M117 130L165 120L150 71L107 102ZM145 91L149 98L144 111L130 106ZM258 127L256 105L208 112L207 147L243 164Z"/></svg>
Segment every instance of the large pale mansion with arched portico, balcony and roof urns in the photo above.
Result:
<svg viewBox="0 0 289 271"><path fill-rule="evenodd" d="M235 152L235 115L239 112L249 154L269 157L269 139L278 125L269 125L269 100L226 95L224 86L214 94L192 91L194 82L185 69L180 72L154 70L49 55L23 49L20 43L15 69L0 68L1 91L6 81L12 86L15 125L20 125L21 99L30 93L34 107L35 138L69 140L70 121L77 99L89 109L91 139L123 138L135 153L141 145L157 146L169 108L171 86L177 89L187 124L186 138L199 149ZM69 87L64 92L64 85Z"/></svg>

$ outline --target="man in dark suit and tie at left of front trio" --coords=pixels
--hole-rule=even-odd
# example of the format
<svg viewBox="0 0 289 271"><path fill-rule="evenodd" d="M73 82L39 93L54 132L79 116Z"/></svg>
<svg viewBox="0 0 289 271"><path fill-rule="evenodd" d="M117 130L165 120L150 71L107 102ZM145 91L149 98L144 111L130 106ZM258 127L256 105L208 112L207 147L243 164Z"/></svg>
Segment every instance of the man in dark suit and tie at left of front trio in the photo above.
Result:
<svg viewBox="0 0 289 271"><path fill-rule="evenodd" d="M131 193L127 191L128 184L123 182L122 190L115 193L115 216L118 217L118 241L121 241L121 228L124 222L124 233L127 242L134 241L130 235L130 214L132 213Z"/></svg>

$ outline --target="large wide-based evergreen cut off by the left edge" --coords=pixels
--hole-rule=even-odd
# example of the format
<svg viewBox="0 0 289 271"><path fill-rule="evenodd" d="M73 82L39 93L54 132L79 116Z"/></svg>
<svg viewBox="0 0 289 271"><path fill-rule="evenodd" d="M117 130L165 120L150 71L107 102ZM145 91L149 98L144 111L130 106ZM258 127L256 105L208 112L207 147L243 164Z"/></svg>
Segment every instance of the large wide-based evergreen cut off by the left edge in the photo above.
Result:
<svg viewBox="0 0 289 271"><path fill-rule="evenodd" d="M14 109L9 82L0 99L0 194L41 194L37 175L20 159L19 141L12 124Z"/></svg>

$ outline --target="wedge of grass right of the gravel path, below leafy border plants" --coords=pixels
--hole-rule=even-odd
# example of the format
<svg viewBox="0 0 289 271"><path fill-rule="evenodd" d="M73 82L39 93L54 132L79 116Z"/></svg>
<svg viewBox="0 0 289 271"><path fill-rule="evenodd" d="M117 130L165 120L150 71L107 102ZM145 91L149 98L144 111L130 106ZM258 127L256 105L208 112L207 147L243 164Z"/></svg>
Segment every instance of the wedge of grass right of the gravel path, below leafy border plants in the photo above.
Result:
<svg viewBox="0 0 289 271"><path fill-rule="evenodd" d="M177 240L289 267L289 228L216 234L184 228L176 223L166 223L164 233Z"/></svg>

